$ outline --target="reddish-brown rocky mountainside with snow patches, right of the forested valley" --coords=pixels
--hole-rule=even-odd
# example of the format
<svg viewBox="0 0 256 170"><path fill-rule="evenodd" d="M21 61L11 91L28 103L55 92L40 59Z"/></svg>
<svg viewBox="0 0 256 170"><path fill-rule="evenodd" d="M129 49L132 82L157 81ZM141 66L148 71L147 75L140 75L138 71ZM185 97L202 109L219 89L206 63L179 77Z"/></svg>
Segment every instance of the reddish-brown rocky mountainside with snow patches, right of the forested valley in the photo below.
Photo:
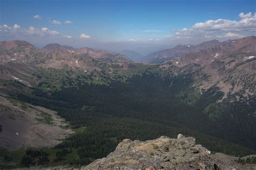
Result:
<svg viewBox="0 0 256 170"><path fill-rule="evenodd" d="M200 90L217 85L221 91L233 94L240 90L244 94L254 93L254 75L256 73L256 37L233 40L218 47L186 53L171 61L173 66L184 67L198 64L197 69L207 74L207 79L200 81Z"/></svg>

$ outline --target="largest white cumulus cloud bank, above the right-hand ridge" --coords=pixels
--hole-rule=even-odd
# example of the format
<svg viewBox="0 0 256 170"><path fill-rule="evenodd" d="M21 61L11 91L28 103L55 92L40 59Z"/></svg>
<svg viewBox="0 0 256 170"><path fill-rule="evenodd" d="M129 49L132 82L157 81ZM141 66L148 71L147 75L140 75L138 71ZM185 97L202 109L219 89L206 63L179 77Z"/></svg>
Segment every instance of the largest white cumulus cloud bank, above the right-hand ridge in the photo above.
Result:
<svg viewBox="0 0 256 170"><path fill-rule="evenodd" d="M178 30L169 38L210 38L210 37L242 37L241 34L255 35L256 13L239 14L239 21L229 19L208 20L194 24L191 28Z"/></svg>

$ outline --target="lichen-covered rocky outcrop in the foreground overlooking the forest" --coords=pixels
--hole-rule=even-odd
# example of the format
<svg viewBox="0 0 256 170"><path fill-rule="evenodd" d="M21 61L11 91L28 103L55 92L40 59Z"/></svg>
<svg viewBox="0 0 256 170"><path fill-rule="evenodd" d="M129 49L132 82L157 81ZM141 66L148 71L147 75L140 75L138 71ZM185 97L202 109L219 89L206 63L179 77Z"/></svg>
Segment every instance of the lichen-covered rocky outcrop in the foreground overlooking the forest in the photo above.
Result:
<svg viewBox="0 0 256 170"><path fill-rule="evenodd" d="M82 169L239 169L240 165L216 160L193 137L160 137L139 141L124 139L116 151Z"/></svg>

